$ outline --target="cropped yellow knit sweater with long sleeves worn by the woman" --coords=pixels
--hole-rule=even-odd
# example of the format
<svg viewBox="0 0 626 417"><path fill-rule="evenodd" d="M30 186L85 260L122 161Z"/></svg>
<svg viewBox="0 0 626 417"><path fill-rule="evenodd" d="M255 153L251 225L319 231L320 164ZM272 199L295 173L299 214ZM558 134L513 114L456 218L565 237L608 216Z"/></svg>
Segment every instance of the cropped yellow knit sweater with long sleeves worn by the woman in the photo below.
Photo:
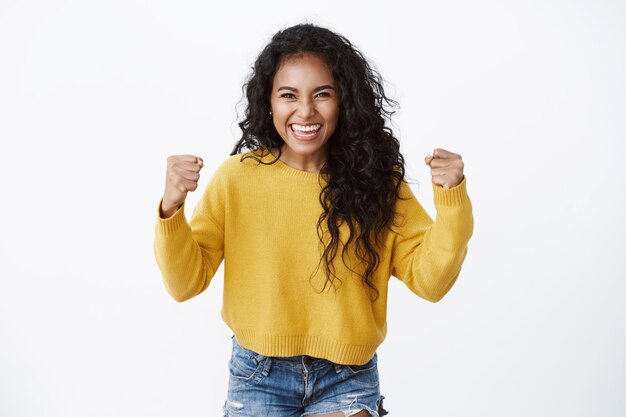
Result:
<svg viewBox="0 0 626 417"><path fill-rule="evenodd" d="M224 260L222 318L242 346L266 356L364 364L387 333L390 276L431 302L459 276L474 224L465 178L450 189L432 183L434 222L403 183L401 195L410 199L397 202L401 226L385 236L372 302L361 277L341 261L341 247L334 262L341 283L321 291L320 175L241 156L217 168L189 222L184 205L168 219L157 211L154 253L177 301L204 291ZM346 262L358 271L354 259Z"/></svg>

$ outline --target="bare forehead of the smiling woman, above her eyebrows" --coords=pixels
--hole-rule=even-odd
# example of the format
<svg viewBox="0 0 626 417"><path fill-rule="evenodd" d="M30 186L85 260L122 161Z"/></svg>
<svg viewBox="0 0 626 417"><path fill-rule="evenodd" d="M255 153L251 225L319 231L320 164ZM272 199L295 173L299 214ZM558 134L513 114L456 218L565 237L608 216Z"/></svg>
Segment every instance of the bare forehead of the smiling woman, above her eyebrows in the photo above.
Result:
<svg viewBox="0 0 626 417"><path fill-rule="evenodd" d="M333 84L333 73L326 61L314 54L305 53L284 57L276 74L274 75L274 87L280 85Z"/></svg>

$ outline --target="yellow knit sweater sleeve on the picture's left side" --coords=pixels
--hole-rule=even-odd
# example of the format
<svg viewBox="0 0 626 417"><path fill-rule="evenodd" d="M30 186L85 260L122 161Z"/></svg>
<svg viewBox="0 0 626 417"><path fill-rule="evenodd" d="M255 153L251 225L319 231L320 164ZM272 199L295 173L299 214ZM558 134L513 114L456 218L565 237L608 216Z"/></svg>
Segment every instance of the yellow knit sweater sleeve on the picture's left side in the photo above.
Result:
<svg viewBox="0 0 626 417"><path fill-rule="evenodd" d="M224 258L224 187L221 173L211 178L191 220L183 204L171 217L157 206L154 255L168 293L182 302L203 292Z"/></svg>

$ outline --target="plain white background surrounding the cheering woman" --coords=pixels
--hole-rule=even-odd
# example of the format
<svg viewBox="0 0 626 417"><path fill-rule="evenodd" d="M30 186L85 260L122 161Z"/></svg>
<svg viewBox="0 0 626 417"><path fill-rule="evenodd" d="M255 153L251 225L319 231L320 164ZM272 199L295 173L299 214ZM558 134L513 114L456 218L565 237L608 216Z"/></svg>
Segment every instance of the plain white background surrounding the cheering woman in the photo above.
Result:
<svg viewBox="0 0 626 417"><path fill-rule="evenodd" d="M465 162L456 285L391 280L390 416L625 415L626 5L592 0L0 0L0 415L221 415L222 269L176 303L152 252L165 160L201 155L203 189L256 55L304 21L388 81L431 216L424 157Z"/></svg>

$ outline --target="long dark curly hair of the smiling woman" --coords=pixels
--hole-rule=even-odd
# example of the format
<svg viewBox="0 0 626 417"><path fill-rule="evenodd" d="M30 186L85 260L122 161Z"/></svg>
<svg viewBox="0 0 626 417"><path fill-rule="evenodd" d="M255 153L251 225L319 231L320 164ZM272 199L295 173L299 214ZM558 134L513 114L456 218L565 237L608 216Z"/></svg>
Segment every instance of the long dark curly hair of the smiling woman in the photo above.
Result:
<svg viewBox="0 0 626 417"><path fill-rule="evenodd" d="M324 246L320 263L324 261L326 273L322 291L328 284L335 287L335 280L341 283L333 260L343 243L342 261L346 264L346 250L354 245L354 253L363 266L357 273L373 291L375 300L379 295L373 284L380 263L377 249L382 246L385 231L395 225L394 207L400 198L405 162L400 142L385 126L385 120L391 121L395 113L392 108L398 103L385 95L383 80L367 58L344 36L310 23L276 33L257 57L242 87L247 107L238 125L243 134L231 155L241 153L244 147L252 151L278 148L279 156L269 163L278 160L284 141L270 116L272 83L284 58L304 53L324 59L340 96L338 124L329 138L326 161L320 169L325 180L319 197L323 212L317 222L318 237ZM260 158L267 153L260 157L255 153L245 155L242 160L252 157L264 163ZM324 222L330 235L327 243L324 243ZM344 222L349 236L340 242L339 230Z"/></svg>

